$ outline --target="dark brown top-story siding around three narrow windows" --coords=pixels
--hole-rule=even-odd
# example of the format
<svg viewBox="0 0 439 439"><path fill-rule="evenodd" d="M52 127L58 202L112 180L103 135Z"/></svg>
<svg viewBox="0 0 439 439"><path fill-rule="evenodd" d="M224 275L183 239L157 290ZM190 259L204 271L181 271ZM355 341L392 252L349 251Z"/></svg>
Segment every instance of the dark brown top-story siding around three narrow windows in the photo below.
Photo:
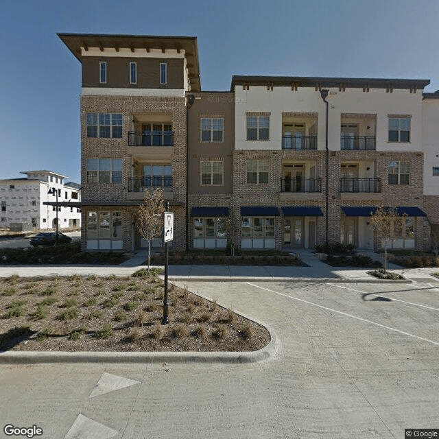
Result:
<svg viewBox="0 0 439 439"><path fill-rule="evenodd" d="M99 82L99 62L107 63L107 82ZM130 84L130 62L137 62L137 84ZM167 84L160 84L160 64L167 63ZM175 58L84 57L82 86L108 88L184 88L184 65Z"/></svg>

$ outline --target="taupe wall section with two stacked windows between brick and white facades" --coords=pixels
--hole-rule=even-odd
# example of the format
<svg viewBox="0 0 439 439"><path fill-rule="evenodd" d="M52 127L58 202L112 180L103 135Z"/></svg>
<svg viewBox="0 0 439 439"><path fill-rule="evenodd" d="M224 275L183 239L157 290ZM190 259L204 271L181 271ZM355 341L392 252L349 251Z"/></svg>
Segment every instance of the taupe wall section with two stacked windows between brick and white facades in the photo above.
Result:
<svg viewBox="0 0 439 439"><path fill-rule="evenodd" d="M195 99L188 112L189 194L233 192L233 149L235 147L235 93L188 93ZM201 142L201 117L224 118L224 141ZM223 158L224 185L202 186L200 183L200 158Z"/></svg>

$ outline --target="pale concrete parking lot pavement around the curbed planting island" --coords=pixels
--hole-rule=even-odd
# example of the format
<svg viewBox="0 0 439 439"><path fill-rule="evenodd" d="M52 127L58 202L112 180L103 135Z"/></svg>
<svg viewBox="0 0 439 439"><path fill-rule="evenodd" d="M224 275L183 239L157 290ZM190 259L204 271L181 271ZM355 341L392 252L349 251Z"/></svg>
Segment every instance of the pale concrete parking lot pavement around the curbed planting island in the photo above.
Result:
<svg viewBox="0 0 439 439"><path fill-rule="evenodd" d="M186 284L268 324L277 355L1 365L3 425L81 439L381 439L439 427L439 283Z"/></svg>

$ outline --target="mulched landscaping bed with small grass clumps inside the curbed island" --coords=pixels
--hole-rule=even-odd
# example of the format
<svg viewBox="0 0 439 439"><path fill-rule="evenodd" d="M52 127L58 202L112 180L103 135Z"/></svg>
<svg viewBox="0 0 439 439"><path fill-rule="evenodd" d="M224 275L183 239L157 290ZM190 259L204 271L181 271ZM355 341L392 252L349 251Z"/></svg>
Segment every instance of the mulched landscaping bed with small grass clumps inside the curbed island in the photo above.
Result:
<svg viewBox="0 0 439 439"><path fill-rule="evenodd" d="M158 271L0 278L0 351L256 351L270 342L259 324L171 284L162 325Z"/></svg>

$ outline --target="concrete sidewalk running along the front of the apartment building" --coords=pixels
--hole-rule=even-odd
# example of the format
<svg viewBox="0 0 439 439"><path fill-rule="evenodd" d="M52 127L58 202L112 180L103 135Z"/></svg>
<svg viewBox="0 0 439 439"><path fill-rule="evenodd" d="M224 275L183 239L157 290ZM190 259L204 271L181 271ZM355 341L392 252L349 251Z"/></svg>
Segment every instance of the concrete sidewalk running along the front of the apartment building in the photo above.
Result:
<svg viewBox="0 0 439 439"><path fill-rule="evenodd" d="M372 259L381 255L364 250ZM359 252L364 253L363 250ZM331 267L320 261L310 250L300 249L300 258L307 267L244 266L244 265L169 265L170 281L303 281L303 282L401 282L381 281L367 274L368 270ZM140 268L147 258L147 250L141 250L120 265L0 265L0 277L12 276L129 276ZM163 267L162 267L163 268ZM401 268L389 264L389 270L402 274L410 281L439 283L431 273L439 268ZM406 281L402 281L406 282Z"/></svg>

